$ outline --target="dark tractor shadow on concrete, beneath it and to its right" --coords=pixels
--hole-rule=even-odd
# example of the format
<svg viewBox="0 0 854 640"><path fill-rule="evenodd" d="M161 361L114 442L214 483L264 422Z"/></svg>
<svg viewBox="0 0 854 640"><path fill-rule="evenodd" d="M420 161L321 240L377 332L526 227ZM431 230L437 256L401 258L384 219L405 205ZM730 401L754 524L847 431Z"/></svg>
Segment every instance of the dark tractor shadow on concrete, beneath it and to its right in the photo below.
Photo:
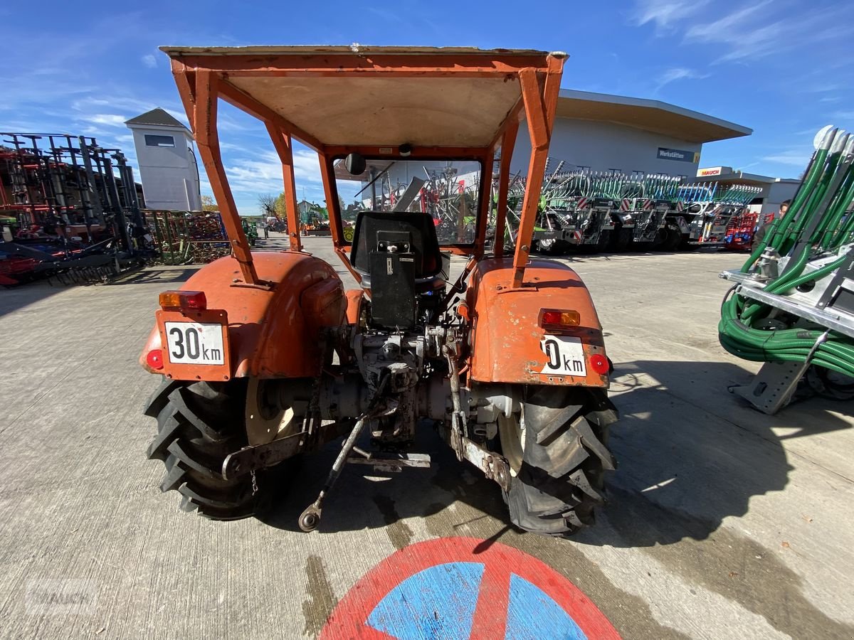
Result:
<svg viewBox="0 0 854 640"><path fill-rule="evenodd" d="M726 391L747 377L745 369L728 363L617 365L612 392L621 417L610 445L619 468L609 480L605 508L611 527L592 527L574 539L646 547L708 538L724 518L745 515L752 497L787 485L791 467L772 428L791 424L807 437L849 427L824 410L834 403L822 399L764 416ZM306 457L264 521L297 530L339 450L340 441ZM387 527L401 518L435 515L458 501L483 514L477 517L492 516L510 527L498 486L459 463L436 433L422 429L413 451L429 453L432 468L383 478L348 465L325 502L319 531ZM457 526L463 524L470 523Z"/></svg>

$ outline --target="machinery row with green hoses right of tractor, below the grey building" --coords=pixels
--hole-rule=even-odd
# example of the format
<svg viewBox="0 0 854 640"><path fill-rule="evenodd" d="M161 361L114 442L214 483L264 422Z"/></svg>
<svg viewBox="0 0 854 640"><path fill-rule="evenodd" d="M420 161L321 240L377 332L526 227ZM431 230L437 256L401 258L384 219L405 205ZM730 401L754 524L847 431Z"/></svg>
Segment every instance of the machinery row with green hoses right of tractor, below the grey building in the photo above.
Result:
<svg viewBox="0 0 854 640"><path fill-rule="evenodd" d="M545 253L722 246L730 220L761 193L746 185L684 184L681 177L662 174L564 172L562 165L540 195L534 242ZM524 178L518 178L507 201L511 243L524 188Z"/></svg>

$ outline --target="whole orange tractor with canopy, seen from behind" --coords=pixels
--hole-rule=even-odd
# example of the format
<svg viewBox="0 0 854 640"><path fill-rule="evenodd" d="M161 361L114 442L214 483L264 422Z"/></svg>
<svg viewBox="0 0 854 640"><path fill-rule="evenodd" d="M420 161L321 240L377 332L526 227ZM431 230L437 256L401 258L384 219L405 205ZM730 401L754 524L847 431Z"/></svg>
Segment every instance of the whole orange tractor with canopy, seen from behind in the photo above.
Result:
<svg viewBox="0 0 854 640"><path fill-rule="evenodd" d="M518 527L565 535L590 524L615 465L606 446L617 420L606 395L611 364L581 279L529 258L565 55L163 50L232 254L161 294L140 358L162 377L145 410L157 420L149 457L166 464L161 489L209 518L249 516L276 488L269 468L343 438L300 516L312 531L345 463L429 466L410 451L416 428L427 426L500 486ZM287 251L249 250L219 154L220 99L262 120L272 137ZM520 122L532 151L516 247L506 255ZM294 139L319 154L331 240L360 288L345 290L330 265L302 249ZM352 235L338 206L345 197L349 212L358 209ZM468 258L453 282L452 254Z"/></svg>

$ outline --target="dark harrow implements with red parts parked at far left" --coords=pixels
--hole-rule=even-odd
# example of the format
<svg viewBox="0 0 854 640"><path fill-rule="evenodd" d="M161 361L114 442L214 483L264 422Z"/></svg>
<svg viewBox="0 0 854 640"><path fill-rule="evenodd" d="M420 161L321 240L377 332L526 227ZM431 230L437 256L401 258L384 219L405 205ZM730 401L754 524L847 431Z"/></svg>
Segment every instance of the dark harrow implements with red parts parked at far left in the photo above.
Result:
<svg viewBox="0 0 854 640"><path fill-rule="evenodd" d="M132 168L93 137L0 132L0 285L104 282L154 255Z"/></svg>

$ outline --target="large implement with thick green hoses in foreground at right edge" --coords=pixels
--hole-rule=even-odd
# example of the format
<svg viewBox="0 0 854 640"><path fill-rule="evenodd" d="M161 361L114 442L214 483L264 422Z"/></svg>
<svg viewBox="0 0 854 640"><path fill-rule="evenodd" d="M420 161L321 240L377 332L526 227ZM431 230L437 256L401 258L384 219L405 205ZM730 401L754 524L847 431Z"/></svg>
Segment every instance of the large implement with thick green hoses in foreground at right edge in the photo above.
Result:
<svg viewBox="0 0 854 640"><path fill-rule="evenodd" d="M718 325L721 345L763 362L736 393L773 414L804 391L854 398L854 136L833 127L792 204L738 271Z"/></svg>

